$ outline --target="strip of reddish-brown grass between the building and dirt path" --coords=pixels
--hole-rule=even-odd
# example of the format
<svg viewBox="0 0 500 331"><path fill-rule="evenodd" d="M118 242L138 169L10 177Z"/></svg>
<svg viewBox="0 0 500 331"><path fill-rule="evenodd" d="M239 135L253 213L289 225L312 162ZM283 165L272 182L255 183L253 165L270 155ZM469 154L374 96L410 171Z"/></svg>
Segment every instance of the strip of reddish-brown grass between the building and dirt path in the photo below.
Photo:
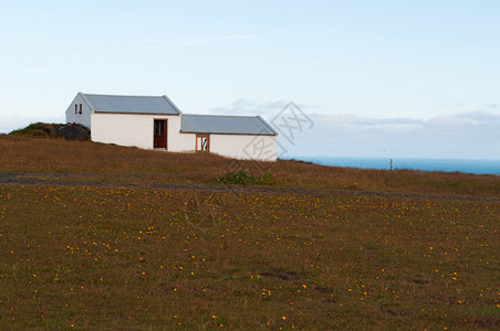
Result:
<svg viewBox="0 0 500 331"><path fill-rule="evenodd" d="M223 185L217 179L232 169L231 162L207 153L152 152L93 142L0 136L0 172L92 174L101 175L104 183L117 184ZM239 166L257 178L271 173L273 180L265 184L277 188L500 197L498 175L360 170L281 160L271 164L240 161ZM143 177L134 179L137 175Z"/></svg>

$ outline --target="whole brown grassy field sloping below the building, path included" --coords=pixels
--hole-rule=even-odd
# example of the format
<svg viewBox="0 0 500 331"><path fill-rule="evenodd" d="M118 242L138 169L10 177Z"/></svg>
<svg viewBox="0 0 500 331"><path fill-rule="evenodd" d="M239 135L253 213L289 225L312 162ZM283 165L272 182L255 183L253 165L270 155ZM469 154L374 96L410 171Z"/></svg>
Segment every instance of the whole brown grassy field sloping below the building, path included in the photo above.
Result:
<svg viewBox="0 0 500 331"><path fill-rule="evenodd" d="M500 328L499 177L228 163L0 137L0 329Z"/></svg>

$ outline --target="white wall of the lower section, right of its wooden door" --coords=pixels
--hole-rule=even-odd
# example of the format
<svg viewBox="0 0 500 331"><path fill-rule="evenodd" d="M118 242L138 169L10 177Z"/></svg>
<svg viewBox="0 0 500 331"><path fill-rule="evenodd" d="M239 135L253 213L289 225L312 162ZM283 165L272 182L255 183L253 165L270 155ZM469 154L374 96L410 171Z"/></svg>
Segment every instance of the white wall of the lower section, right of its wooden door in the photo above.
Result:
<svg viewBox="0 0 500 331"><path fill-rule="evenodd" d="M229 158L277 160L275 136L210 135L210 151Z"/></svg>

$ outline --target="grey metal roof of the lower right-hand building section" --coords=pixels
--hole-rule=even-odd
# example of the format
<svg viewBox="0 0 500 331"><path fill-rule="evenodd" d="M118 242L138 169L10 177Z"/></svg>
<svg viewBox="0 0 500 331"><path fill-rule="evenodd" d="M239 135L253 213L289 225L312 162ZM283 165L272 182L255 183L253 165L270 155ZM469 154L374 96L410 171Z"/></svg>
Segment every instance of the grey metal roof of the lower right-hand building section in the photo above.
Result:
<svg viewBox="0 0 500 331"><path fill-rule="evenodd" d="M278 132L260 116L186 115L180 119L180 131L195 134L263 135Z"/></svg>

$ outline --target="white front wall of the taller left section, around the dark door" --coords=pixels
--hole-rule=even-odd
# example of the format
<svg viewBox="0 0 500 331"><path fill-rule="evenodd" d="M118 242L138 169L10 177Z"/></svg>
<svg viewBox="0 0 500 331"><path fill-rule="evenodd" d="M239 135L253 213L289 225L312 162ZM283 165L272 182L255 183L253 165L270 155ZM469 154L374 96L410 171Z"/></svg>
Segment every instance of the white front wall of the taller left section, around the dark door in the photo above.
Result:
<svg viewBox="0 0 500 331"><path fill-rule="evenodd" d="M91 119L92 141L144 149L153 149L154 120L168 119L167 149L177 151L180 145L180 116L177 115L93 113Z"/></svg>

